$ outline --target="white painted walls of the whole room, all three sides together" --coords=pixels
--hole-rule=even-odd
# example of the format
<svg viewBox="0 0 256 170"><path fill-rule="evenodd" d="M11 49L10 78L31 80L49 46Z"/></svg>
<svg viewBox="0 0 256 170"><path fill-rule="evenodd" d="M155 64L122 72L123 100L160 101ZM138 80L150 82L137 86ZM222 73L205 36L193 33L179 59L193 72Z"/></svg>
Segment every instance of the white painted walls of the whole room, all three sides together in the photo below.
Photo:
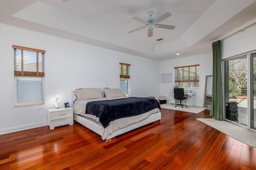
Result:
<svg viewBox="0 0 256 170"><path fill-rule="evenodd" d="M47 109L55 107L55 95L60 96L58 104L61 107L65 102L70 102L70 84L119 83L120 62L131 64L132 96L158 98L161 95L167 97L167 102L169 92L174 87L174 74L172 83L161 83L161 73L174 73L176 66L200 64L200 88L196 89L196 106L201 107L204 102L205 76L212 75L211 53L158 62L2 23L0 37L0 134L47 125ZM256 50L255 39L256 25L245 29L244 33L224 39L221 42L222 58ZM14 107L12 45L46 50L44 105Z"/></svg>

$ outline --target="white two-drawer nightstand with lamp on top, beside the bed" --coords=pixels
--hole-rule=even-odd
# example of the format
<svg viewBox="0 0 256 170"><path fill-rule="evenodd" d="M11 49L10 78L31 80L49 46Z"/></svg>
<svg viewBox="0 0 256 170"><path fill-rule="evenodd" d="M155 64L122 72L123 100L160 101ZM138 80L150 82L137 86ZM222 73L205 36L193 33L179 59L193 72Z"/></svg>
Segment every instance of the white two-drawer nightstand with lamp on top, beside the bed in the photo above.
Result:
<svg viewBox="0 0 256 170"><path fill-rule="evenodd" d="M48 109L48 125L50 129L62 125L73 125L73 108L61 107L59 109Z"/></svg>

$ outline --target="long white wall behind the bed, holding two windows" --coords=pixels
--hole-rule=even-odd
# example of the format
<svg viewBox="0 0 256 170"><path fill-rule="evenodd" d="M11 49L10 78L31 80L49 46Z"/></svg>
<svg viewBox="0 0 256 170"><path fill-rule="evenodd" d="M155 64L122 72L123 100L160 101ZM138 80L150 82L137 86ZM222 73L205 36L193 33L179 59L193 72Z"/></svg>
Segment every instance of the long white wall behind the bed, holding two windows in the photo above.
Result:
<svg viewBox="0 0 256 170"><path fill-rule="evenodd" d="M119 83L131 64L131 96L160 95L160 62L0 23L0 134L47 125L47 109L70 101L70 84ZM14 107L12 45L45 50L45 104Z"/></svg>

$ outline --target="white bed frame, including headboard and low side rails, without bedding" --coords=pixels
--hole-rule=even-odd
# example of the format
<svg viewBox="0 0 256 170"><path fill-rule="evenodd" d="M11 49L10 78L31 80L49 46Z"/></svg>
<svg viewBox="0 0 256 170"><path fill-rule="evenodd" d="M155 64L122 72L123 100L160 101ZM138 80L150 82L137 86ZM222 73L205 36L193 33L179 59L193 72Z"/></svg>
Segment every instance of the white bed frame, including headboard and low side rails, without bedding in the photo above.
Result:
<svg viewBox="0 0 256 170"><path fill-rule="evenodd" d="M103 88L120 88L119 84L70 84L70 91L71 91L71 101L73 102L76 99L75 94L73 93L74 90L79 89L79 88L101 88L103 92ZM137 123L133 123L131 125L128 125L122 129L118 129L114 132L112 132L108 137L105 139L106 143L113 141L116 136L124 134L128 131L134 130L138 127L142 127L144 125L147 125L149 123L153 122L160 122L161 119L161 112L154 113L150 115L150 117L139 121ZM74 120L77 121L78 123L84 125L88 129L94 131L98 135L102 135L102 126L98 125L95 122L92 122L88 119L85 119L84 117L77 115L74 113Z"/></svg>

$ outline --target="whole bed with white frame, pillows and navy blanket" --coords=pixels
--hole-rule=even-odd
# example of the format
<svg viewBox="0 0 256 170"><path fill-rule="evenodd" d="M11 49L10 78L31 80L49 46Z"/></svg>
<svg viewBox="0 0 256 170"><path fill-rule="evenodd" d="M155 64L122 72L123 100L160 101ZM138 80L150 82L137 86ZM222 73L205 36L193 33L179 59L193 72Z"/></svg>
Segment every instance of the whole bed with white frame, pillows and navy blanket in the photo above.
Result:
<svg viewBox="0 0 256 170"><path fill-rule="evenodd" d="M119 88L119 84L79 84L79 85L72 84L70 85L71 101L74 101L74 106L73 106L74 121L77 121L78 123L84 125L88 129L100 135L102 140L104 140L106 143L113 141L115 137L118 135L134 130L138 127L142 127L149 123L160 122L160 119L161 119L160 106L157 100L152 98L151 99L150 98L134 98L135 100L137 100L136 105L139 105L139 106L141 105L140 100L143 100L142 103L144 104L146 102L150 102L150 106L151 105L152 106L151 108L147 108L150 110L144 111L143 109L142 110L138 109L138 113L135 113L137 112L137 110L136 111L133 110L132 116L125 115L125 117L118 117L118 119L113 118L108 121L105 121L105 124L104 124L104 121L102 121L104 119L101 119L100 115L97 115L96 113L95 114L86 113L86 109L89 109L90 111L95 112L95 110L98 111L98 109L103 106L104 108L109 107L112 101L115 101L115 102L118 101L122 103L122 101L124 100L125 101L134 100L122 94L122 92L120 92L120 89L118 88ZM96 105L97 103L100 104L100 106ZM91 106L91 108L93 109L90 109L89 106ZM97 109L95 109L95 107ZM103 109L103 110L105 111L106 109ZM112 110L108 109L108 110L110 110L110 113L108 114L114 114L112 111L113 109ZM114 114L114 115L118 115L118 114Z"/></svg>

